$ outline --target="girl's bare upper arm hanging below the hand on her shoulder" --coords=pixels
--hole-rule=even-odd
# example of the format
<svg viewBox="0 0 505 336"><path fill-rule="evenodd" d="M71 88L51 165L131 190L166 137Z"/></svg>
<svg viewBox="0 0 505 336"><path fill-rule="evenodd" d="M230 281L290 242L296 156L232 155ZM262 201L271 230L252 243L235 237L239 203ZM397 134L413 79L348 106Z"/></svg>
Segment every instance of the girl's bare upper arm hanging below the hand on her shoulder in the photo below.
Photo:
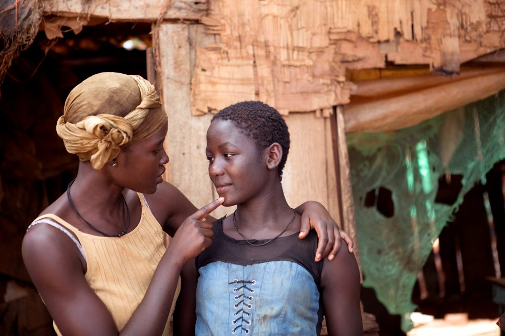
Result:
<svg viewBox="0 0 505 336"><path fill-rule="evenodd" d="M333 260L324 259L321 287L328 334L362 336L360 271L354 254L338 253Z"/></svg>

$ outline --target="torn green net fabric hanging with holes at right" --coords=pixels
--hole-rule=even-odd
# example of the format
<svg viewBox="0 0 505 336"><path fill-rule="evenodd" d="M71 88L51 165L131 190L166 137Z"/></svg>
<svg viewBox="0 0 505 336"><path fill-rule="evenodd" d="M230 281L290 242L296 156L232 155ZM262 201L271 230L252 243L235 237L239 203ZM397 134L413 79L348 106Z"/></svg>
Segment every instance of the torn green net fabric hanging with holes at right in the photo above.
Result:
<svg viewBox="0 0 505 336"><path fill-rule="evenodd" d="M464 195L505 158L504 137L505 91L410 128L347 135L363 285L402 316L404 331L412 328L412 291L433 241ZM463 176L451 205L435 203L445 174ZM391 191L391 213L366 201L381 187Z"/></svg>

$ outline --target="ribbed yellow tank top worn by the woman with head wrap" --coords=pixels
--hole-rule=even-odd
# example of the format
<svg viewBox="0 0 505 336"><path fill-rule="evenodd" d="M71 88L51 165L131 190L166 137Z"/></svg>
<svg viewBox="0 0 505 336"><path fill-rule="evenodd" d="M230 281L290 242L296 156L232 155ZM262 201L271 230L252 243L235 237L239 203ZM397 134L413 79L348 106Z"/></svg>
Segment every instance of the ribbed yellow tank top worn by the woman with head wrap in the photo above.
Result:
<svg viewBox="0 0 505 336"><path fill-rule="evenodd" d="M140 222L133 231L121 237L94 236L81 232L53 214L45 214L33 221L53 219L75 234L86 258L86 281L111 312L119 331L144 297L168 246L169 236L148 209L143 195L138 195L142 205ZM170 318L179 292L180 278L164 336L171 334ZM53 325L56 333L61 335L56 323L53 322Z"/></svg>

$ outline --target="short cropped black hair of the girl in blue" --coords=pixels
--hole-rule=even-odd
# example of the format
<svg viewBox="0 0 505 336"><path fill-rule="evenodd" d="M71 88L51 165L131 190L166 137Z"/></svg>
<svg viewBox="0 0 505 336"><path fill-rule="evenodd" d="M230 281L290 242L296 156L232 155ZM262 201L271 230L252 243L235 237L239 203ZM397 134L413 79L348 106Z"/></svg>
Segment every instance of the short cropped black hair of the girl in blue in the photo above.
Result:
<svg viewBox="0 0 505 336"><path fill-rule="evenodd" d="M244 135L256 143L258 152L273 143L281 145L282 158L278 174L282 180L290 140L286 122L275 108L261 101L243 101L223 108L213 116L211 122L214 120L232 121Z"/></svg>

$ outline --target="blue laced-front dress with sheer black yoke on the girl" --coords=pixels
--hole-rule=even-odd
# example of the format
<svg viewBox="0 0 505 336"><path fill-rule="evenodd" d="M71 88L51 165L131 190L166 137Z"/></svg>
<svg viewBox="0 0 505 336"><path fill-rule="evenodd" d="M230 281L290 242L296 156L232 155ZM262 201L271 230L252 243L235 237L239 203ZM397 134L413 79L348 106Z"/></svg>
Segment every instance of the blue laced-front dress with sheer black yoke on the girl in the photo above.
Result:
<svg viewBox="0 0 505 336"><path fill-rule="evenodd" d="M213 225L212 245L196 258L195 333L318 335L323 263L314 261L316 232L251 246L226 236L222 221Z"/></svg>

